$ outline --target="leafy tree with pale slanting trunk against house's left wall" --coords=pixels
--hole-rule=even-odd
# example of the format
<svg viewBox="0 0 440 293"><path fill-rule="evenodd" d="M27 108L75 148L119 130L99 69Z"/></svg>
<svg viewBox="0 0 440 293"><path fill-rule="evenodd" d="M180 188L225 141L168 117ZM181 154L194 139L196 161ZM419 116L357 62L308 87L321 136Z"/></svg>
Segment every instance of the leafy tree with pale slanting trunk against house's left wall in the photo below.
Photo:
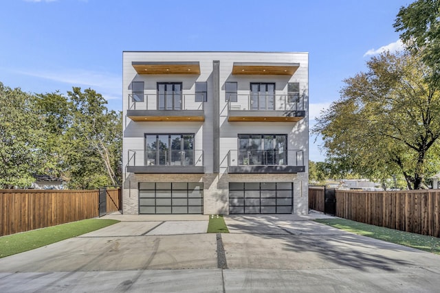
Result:
<svg viewBox="0 0 440 293"><path fill-rule="evenodd" d="M122 115L109 111L107 101L92 89L74 87L67 97L72 103L72 125L66 133L69 187L120 185Z"/></svg>

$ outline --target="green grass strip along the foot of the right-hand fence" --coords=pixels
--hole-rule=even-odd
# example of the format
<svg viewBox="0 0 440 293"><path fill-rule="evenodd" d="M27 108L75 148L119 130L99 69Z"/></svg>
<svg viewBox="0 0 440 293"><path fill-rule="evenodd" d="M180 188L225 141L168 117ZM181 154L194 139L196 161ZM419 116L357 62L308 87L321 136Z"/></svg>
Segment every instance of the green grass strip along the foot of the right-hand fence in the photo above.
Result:
<svg viewBox="0 0 440 293"><path fill-rule="evenodd" d="M315 221L358 235L401 244L440 255L440 238L437 237L393 230L345 219L320 219Z"/></svg>

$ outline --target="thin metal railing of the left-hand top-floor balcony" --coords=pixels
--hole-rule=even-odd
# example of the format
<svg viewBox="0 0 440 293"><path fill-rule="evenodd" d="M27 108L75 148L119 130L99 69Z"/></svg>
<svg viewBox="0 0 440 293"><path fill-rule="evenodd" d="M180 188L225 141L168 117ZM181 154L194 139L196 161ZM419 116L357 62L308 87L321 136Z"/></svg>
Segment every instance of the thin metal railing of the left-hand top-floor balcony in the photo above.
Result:
<svg viewBox="0 0 440 293"><path fill-rule="evenodd" d="M197 97L197 101L196 101ZM130 93L129 110L203 110L203 94ZM199 101L201 100L201 101Z"/></svg>

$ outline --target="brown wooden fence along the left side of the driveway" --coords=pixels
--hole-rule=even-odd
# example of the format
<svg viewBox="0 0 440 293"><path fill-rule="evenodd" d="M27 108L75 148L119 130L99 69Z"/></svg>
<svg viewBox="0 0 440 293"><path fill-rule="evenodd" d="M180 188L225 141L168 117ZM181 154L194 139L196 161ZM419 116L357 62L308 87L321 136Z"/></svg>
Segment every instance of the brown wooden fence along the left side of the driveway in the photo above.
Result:
<svg viewBox="0 0 440 293"><path fill-rule="evenodd" d="M99 215L98 190L0 189L0 236ZM118 211L121 189L107 189L107 212Z"/></svg>

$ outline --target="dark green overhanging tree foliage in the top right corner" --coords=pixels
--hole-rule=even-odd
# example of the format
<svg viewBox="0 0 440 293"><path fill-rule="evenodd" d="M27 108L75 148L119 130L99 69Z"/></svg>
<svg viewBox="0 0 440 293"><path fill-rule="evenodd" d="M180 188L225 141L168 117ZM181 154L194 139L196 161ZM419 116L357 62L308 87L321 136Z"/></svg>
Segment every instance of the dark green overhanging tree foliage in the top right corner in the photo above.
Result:
<svg viewBox="0 0 440 293"><path fill-rule="evenodd" d="M421 52L432 69L431 82L440 82L440 0L417 0L401 7L394 27L412 53Z"/></svg>

